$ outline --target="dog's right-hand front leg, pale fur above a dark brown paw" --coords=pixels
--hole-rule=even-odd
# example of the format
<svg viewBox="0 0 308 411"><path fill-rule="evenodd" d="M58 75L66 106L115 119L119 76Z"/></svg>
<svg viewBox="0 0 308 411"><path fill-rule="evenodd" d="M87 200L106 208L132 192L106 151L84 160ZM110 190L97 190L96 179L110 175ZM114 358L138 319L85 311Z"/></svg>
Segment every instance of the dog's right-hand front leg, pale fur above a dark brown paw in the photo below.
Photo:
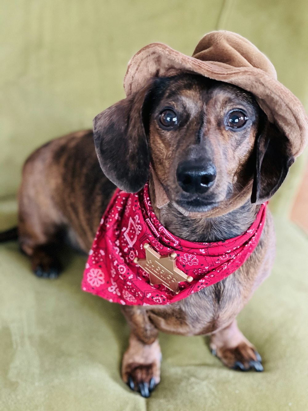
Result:
<svg viewBox="0 0 308 411"><path fill-rule="evenodd" d="M229 368L241 371L253 368L263 371L260 354L241 333L236 319L229 326L211 335L210 347L212 353Z"/></svg>

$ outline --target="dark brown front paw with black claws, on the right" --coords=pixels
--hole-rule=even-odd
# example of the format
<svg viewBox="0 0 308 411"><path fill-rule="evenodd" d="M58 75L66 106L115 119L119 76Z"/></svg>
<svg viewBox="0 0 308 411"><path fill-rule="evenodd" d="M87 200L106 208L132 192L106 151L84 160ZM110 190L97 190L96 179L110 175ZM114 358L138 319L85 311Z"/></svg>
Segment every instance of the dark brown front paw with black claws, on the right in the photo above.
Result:
<svg viewBox="0 0 308 411"><path fill-rule="evenodd" d="M263 371L262 359L255 348L245 341L236 347L212 348L212 354L217 356L224 365L239 371Z"/></svg>

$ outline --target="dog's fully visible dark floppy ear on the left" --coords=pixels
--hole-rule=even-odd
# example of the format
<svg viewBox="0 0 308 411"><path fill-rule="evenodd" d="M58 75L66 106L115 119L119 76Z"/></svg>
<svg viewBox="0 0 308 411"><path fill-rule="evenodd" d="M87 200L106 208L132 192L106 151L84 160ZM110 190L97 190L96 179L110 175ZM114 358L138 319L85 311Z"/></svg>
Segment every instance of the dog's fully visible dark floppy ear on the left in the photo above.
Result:
<svg viewBox="0 0 308 411"><path fill-rule="evenodd" d="M93 120L95 150L101 169L126 192L138 192L149 176L145 111L151 85L117 102Z"/></svg>

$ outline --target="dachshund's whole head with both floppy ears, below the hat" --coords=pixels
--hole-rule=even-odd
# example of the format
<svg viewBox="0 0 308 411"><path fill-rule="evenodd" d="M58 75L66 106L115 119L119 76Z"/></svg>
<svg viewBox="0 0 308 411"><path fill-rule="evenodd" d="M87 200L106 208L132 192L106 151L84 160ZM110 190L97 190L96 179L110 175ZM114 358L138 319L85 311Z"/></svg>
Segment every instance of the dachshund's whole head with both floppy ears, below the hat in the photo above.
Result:
<svg viewBox="0 0 308 411"><path fill-rule="evenodd" d="M106 176L126 192L149 178L188 212L224 214L268 200L294 161L253 95L194 74L153 79L94 119Z"/></svg>

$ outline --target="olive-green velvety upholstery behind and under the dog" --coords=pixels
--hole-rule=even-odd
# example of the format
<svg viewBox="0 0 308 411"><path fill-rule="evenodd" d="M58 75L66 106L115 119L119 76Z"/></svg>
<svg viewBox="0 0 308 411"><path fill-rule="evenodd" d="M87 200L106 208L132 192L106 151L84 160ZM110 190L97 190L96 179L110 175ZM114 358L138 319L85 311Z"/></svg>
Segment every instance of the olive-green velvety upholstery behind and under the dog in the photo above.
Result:
<svg viewBox="0 0 308 411"><path fill-rule="evenodd" d="M236 31L308 108L306 0L4 0L0 18L0 230L16 223L27 155L123 98L127 62L150 42L191 54L206 32ZM272 275L239 315L264 373L226 369L202 337L161 334L161 384L150 399L130 392L128 326L117 305L80 291L85 258L68 252L59 279L38 279L10 242L0 245L0 410L306 411L308 241L288 221L304 157L271 203Z"/></svg>

